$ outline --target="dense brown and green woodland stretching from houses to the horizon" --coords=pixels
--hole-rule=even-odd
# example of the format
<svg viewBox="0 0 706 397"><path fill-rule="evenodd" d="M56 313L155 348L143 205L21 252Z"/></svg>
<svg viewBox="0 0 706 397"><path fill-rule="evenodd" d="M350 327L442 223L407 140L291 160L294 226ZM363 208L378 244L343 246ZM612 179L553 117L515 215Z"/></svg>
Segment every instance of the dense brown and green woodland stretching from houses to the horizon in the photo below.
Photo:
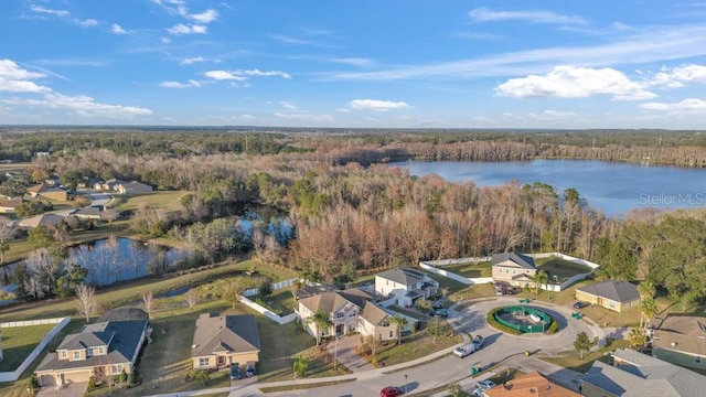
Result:
<svg viewBox="0 0 706 397"><path fill-rule="evenodd" d="M34 159L49 151L51 160ZM541 182L479 187L416 178L385 162L577 158L706 167L694 131L119 131L9 129L0 160L33 160L26 182L55 172L184 190L182 210L142 206L136 230L186 244L193 264L254 250L263 260L347 281L422 259L563 251L598 277L651 279L687 303L706 297L706 211L641 210L609 218L568 189ZM0 178L0 194L17 180ZM17 186L14 186L17 189ZM250 212L252 235L235 226ZM270 217L286 217L293 234ZM279 225L279 226L278 226Z"/></svg>

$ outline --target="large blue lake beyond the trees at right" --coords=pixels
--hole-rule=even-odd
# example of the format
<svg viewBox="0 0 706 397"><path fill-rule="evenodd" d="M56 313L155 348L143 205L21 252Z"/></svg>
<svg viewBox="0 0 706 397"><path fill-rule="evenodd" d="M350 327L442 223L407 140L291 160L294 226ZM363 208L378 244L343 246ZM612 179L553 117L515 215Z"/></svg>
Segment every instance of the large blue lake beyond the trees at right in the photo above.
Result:
<svg viewBox="0 0 706 397"><path fill-rule="evenodd" d="M706 204L706 170L593 160L507 162L403 161L389 163L413 175L438 174L478 186L548 183L558 192L576 189L588 203L611 216L634 208L694 208Z"/></svg>

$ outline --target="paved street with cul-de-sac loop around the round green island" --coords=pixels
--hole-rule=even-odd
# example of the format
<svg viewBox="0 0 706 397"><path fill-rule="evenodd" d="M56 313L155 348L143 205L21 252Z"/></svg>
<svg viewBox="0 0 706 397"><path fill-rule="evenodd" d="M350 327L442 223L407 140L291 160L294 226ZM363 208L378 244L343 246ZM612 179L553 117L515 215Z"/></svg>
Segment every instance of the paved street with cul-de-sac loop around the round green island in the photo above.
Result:
<svg viewBox="0 0 706 397"><path fill-rule="evenodd" d="M450 322L458 330L480 334L485 337L484 346L481 351L458 358L451 355L453 347L437 352L428 357L391 366L388 368L377 368L365 371L356 374L331 377L331 378L311 378L292 382L278 382L258 385L242 385L224 389L207 389L192 393L180 393L180 396L199 395L208 393L226 393L229 396L377 396L379 390L385 386L398 386L403 389L407 388L409 394L434 389L459 382L467 390L473 389L478 380L492 377L495 375L492 371L483 373L480 377L471 378L470 368L474 366L488 367L498 363L502 363L496 371L505 371L506 368L518 368L523 372L539 371L549 376L558 384L576 389L578 379L581 374L561 368L559 366L539 361L535 357L526 357L525 351L542 352L544 354L558 354L559 352L570 351L574 348L576 334L586 332L589 337L605 339L602 330L598 326L578 321L570 318L573 310L570 308L556 307L543 302L533 302L530 305L538 307L547 311L549 314L559 319L559 331L554 335L526 335L514 336L502 334L491 329L485 315L490 309L500 305L517 304L516 298L490 298L488 300L475 300L472 304L460 308L458 304L451 307ZM458 309L454 310L454 309ZM468 341L468 335L464 335ZM291 386L303 383L322 383L343 379L355 379L355 382L342 383L335 386L318 387L301 390L288 390L279 393L264 394L259 387L272 386ZM447 393L440 393L440 396ZM173 397L174 395L162 395Z"/></svg>

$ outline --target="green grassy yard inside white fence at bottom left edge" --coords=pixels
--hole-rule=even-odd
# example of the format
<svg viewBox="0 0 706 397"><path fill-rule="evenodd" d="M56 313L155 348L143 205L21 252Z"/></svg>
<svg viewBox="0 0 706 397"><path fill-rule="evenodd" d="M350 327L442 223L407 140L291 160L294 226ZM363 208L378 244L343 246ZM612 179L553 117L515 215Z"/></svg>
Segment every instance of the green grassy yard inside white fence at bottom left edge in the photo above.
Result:
<svg viewBox="0 0 706 397"><path fill-rule="evenodd" d="M14 371L56 324L13 326L1 330L3 360L0 372Z"/></svg>

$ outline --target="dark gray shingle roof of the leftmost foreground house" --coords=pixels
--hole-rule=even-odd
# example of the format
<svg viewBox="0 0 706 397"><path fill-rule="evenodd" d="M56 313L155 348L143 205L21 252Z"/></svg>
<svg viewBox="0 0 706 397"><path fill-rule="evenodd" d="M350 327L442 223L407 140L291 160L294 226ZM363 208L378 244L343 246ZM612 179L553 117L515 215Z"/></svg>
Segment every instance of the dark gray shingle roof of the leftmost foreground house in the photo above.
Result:
<svg viewBox="0 0 706 397"><path fill-rule="evenodd" d="M61 371L93 367L106 364L130 363L140 348L140 337L147 329L147 320L104 321L85 325L79 333L64 337L57 350L78 350L105 345L109 342L108 354L90 356L81 361L58 360L56 353L47 354L36 371Z"/></svg>

